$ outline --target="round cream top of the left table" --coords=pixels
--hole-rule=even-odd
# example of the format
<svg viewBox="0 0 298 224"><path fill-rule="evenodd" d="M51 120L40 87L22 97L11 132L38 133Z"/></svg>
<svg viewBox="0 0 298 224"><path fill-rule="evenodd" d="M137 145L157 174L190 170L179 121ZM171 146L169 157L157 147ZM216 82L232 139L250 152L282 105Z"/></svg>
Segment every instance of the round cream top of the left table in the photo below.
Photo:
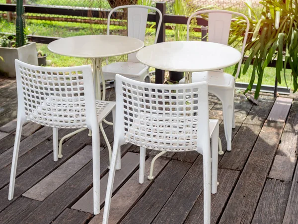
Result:
<svg viewBox="0 0 298 224"><path fill-rule="evenodd" d="M56 54L82 58L102 58L136 52L144 47L137 38L116 35L84 35L55 40L48 45Z"/></svg>

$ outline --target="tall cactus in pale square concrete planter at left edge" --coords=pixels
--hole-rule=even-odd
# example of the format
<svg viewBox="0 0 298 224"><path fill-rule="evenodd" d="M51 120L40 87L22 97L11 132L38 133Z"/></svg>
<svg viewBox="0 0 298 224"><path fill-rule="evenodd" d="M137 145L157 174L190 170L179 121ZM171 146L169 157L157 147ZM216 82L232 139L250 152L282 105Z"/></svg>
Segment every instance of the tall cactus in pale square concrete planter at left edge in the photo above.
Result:
<svg viewBox="0 0 298 224"><path fill-rule="evenodd" d="M35 42L27 42L25 33L23 1L16 1L16 35L4 35L0 40L0 55L4 61L0 60L0 70L7 73L9 77L15 77L14 60L26 62L32 65L38 65L36 44Z"/></svg>

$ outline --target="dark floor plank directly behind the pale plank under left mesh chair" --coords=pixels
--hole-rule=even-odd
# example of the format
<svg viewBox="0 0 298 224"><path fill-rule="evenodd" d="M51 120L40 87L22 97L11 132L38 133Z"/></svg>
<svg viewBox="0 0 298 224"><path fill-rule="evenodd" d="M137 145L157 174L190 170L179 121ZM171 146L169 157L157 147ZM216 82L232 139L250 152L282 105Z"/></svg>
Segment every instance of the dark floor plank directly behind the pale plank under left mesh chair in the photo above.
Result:
<svg viewBox="0 0 298 224"><path fill-rule="evenodd" d="M47 155L44 159L36 163L15 180L14 198L8 201L8 185L0 190L0 211L14 202L24 192L45 178L49 173L54 171L62 163L72 157L76 152L82 149L85 145L91 143L91 138L86 137L88 130L82 131L63 144L63 158L57 162L53 160L53 153ZM32 136L32 135L31 135ZM105 151L105 150L103 150ZM3 154L3 153L2 153Z"/></svg>

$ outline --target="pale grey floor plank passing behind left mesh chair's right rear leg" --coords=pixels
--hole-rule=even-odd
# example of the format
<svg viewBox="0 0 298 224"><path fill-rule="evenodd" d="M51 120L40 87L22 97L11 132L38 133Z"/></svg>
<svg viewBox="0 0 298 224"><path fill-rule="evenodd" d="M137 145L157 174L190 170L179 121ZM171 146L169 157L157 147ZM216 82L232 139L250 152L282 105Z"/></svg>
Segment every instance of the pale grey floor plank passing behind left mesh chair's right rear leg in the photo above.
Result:
<svg viewBox="0 0 298 224"><path fill-rule="evenodd" d="M116 191L138 168L140 155L133 152L128 152L121 159L121 170L115 173L113 192ZM103 205L107 191L109 173L100 179L100 206ZM81 199L79 199L72 209L93 214L93 188L91 188Z"/></svg>

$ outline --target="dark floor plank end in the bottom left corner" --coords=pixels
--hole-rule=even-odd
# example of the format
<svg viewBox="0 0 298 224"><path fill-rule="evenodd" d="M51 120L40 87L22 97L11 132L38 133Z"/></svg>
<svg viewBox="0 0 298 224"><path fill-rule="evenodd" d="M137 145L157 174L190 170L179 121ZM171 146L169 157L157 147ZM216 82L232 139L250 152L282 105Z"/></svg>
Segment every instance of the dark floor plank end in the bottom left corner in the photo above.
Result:
<svg viewBox="0 0 298 224"><path fill-rule="evenodd" d="M0 213L1 224L19 224L40 202L29 198L20 197Z"/></svg>

